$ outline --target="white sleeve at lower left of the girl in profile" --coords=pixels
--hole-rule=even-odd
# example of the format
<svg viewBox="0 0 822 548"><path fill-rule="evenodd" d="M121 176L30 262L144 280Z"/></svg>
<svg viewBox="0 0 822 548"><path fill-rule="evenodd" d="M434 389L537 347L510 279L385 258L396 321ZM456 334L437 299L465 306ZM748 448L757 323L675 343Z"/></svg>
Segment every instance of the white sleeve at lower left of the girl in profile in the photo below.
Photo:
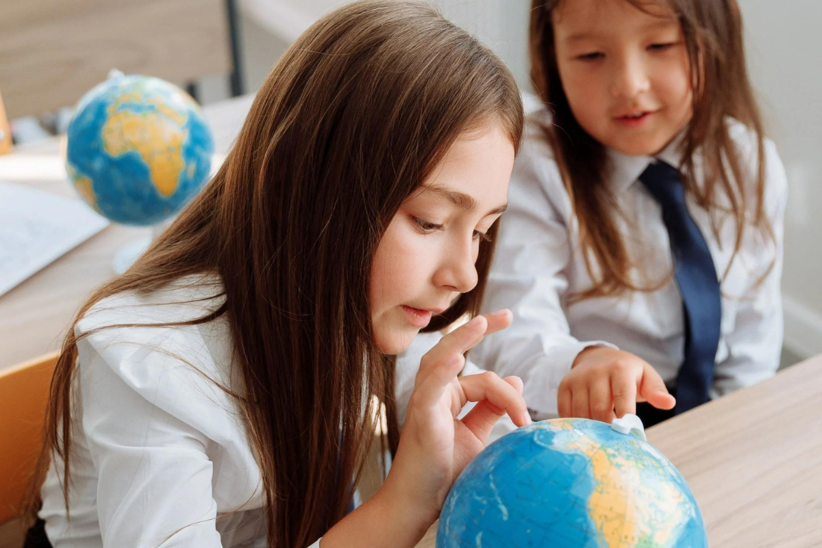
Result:
<svg viewBox="0 0 822 548"><path fill-rule="evenodd" d="M151 349L173 347L170 329L149 346L122 342L118 331L127 329L78 343L81 425L98 472L103 545L222 548L210 440L173 412L192 395L178 376L188 365Z"/></svg>

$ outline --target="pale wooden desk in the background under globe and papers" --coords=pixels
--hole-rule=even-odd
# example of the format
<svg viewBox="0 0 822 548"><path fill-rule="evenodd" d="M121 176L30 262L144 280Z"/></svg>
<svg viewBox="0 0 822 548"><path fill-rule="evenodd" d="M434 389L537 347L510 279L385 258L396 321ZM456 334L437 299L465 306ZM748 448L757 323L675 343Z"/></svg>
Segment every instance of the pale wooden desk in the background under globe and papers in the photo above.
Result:
<svg viewBox="0 0 822 548"><path fill-rule="evenodd" d="M246 95L204 108L220 155L229 150L252 99ZM58 139L0 157L0 181L76 197L62 170ZM147 228L112 224L0 296L0 369L58 349L85 297L113 276L114 253L147 233Z"/></svg>

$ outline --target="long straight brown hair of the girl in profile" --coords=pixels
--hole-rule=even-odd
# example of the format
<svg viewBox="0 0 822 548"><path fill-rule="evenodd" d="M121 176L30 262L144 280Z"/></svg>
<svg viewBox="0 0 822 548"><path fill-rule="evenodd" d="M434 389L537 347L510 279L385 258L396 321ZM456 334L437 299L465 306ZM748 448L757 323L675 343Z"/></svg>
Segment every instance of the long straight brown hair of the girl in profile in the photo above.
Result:
<svg viewBox="0 0 822 548"><path fill-rule="evenodd" d="M372 344L372 258L459 134L488 123L519 146L520 94L488 48L418 3L341 7L277 62L214 179L79 312L118 292L219 274L224 305L189 323L225 315L231 325L243 385L227 389L256 449L270 546L307 546L344 515L376 426L364 403L386 405L396 442L394 360ZM481 243L480 283L428 329L477 313L491 255ZM66 504L75 325L39 463L42 478L53 453L63 459Z"/></svg>

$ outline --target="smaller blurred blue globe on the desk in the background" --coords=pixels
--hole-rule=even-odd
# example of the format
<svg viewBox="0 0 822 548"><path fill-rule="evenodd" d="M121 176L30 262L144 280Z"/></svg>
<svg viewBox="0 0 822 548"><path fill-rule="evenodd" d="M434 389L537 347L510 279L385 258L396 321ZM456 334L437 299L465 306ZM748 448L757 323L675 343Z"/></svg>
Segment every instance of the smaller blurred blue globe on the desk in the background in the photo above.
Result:
<svg viewBox="0 0 822 548"><path fill-rule="evenodd" d="M77 104L66 152L86 204L116 223L151 225L205 184L214 140L199 105L177 86L117 73Z"/></svg>

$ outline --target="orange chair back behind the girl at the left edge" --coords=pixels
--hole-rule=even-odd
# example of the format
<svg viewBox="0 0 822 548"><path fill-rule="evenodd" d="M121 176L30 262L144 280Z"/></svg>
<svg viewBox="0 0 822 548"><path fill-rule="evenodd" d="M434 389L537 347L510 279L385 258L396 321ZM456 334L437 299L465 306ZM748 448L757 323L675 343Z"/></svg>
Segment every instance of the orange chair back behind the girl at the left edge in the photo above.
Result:
<svg viewBox="0 0 822 548"><path fill-rule="evenodd" d="M0 523L15 518L43 442L58 353L0 371Z"/></svg>

